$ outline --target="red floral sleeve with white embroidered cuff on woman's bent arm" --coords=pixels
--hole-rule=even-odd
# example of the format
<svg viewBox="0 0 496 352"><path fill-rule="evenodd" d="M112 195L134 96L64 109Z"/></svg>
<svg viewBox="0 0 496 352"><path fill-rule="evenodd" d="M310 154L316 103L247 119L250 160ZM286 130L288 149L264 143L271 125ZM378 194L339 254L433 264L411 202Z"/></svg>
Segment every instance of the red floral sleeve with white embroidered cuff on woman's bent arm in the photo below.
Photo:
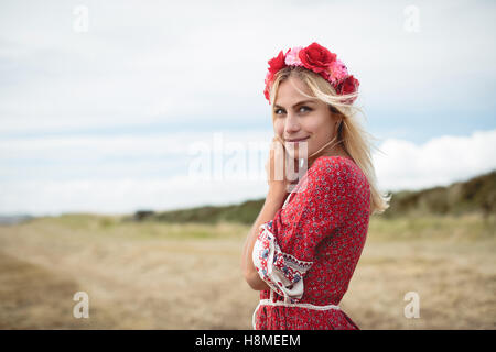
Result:
<svg viewBox="0 0 496 352"><path fill-rule="evenodd" d="M344 223L345 167L339 158L317 158L289 205L260 226L255 267L270 288L292 302L303 296L303 278L317 245Z"/></svg>

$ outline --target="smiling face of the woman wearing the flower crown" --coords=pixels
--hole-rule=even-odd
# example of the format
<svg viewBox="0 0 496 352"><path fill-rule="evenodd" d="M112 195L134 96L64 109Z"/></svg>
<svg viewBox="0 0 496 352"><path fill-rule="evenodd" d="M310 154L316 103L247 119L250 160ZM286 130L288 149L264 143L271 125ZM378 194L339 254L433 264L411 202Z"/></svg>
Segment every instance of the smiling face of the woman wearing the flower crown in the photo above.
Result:
<svg viewBox="0 0 496 352"><path fill-rule="evenodd" d="M334 138L335 120L328 105L301 95L294 86L312 96L312 91L295 77L279 85L273 103L273 130L293 158L308 158ZM294 143L290 140L305 139ZM306 153L304 145L306 143Z"/></svg>

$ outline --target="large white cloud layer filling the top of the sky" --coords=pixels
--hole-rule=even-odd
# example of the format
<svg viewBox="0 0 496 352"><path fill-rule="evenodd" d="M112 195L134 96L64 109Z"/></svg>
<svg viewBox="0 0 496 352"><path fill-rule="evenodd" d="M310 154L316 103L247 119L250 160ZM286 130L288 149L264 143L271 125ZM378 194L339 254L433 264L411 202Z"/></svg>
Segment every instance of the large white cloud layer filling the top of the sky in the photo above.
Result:
<svg viewBox="0 0 496 352"><path fill-rule="evenodd" d="M420 1L417 34L392 1L85 1L85 34L72 30L76 4L2 2L0 132L255 114L267 61L313 41L357 75L368 108L494 100L472 89L496 77L492 2Z"/></svg>

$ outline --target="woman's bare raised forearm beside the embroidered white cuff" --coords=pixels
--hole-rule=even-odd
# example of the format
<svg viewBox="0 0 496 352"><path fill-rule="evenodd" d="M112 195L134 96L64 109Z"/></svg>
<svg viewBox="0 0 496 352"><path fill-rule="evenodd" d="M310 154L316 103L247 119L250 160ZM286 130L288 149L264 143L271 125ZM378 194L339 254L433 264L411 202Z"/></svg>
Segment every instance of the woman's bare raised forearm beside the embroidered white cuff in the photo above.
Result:
<svg viewBox="0 0 496 352"><path fill-rule="evenodd" d="M245 275L245 279L250 285L252 289L263 290L269 289L266 282L263 282L257 273L255 268L254 261L251 258L251 253L254 252L254 245L257 241L258 233L260 231L260 226L269 220L272 220L276 216L276 212L281 209L282 204L284 201L284 196L280 194L269 194L266 197L266 201L263 202L263 207L260 210L257 219L255 220L254 226L248 232L248 237L245 241L245 246L242 249L242 257L241 257L241 270Z"/></svg>

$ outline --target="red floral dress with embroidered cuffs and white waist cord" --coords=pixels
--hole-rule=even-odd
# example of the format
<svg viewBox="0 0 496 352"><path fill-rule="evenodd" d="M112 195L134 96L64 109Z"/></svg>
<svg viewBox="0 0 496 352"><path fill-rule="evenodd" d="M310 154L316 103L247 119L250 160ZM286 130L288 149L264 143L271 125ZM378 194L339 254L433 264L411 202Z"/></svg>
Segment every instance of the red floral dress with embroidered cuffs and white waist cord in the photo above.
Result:
<svg viewBox="0 0 496 352"><path fill-rule="evenodd" d="M359 329L338 307L368 231L370 187L351 158L321 156L273 220L252 260L270 287L260 292L256 330Z"/></svg>

